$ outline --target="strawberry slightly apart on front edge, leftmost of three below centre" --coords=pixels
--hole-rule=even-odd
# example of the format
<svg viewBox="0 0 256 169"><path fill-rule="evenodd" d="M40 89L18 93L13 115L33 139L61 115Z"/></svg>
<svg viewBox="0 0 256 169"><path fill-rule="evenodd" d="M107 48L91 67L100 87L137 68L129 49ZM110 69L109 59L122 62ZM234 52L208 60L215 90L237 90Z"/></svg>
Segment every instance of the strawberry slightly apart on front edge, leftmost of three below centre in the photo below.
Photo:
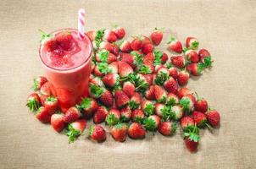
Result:
<svg viewBox="0 0 256 169"><path fill-rule="evenodd" d="M106 140L106 131L100 125L91 126L88 134L89 139L101 143Z"/></svg>

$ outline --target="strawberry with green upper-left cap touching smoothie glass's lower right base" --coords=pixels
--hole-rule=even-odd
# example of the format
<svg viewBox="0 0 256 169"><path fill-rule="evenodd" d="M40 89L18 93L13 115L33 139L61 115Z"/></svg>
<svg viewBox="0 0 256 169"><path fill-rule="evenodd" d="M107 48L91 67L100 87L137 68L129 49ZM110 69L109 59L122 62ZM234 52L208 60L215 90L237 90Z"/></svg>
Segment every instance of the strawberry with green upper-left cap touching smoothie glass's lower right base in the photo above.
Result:
<svg viewBox="0 0 256 169"><path fill-rule="evenodd" d="M78 108L83 112L84 117L90 118L97 111L97 101L92 98L85 97L82 99Z"/></svg>

